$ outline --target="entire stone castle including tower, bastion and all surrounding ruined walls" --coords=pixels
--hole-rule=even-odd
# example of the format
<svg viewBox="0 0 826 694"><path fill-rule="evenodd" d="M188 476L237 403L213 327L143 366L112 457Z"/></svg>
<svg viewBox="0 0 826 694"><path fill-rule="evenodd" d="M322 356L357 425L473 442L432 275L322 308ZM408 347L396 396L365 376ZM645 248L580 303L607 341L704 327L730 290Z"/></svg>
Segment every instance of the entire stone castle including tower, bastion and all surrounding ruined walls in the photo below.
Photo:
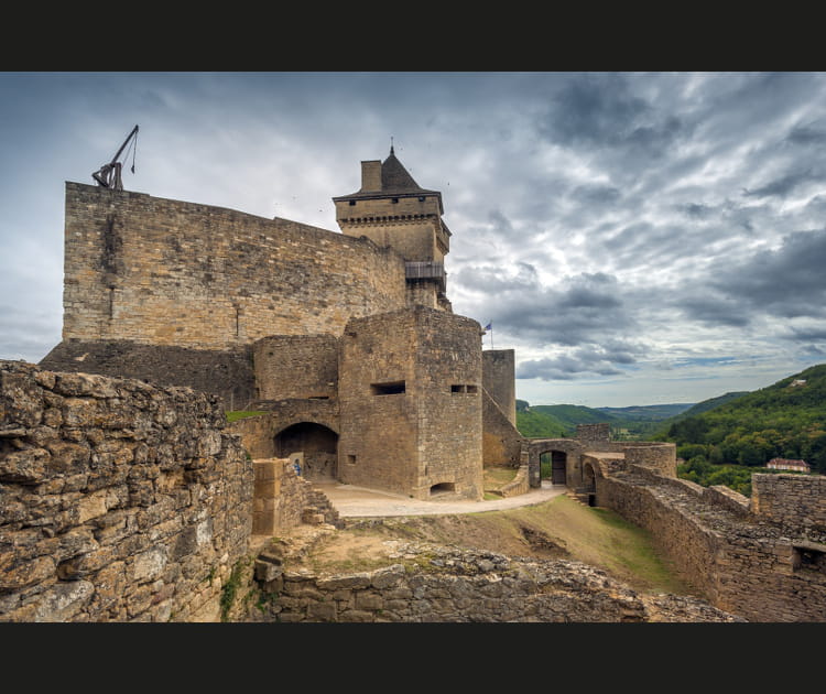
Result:
<svg viewBox="0 0 826 694"><path fill-rule="evenodd" d="M513 351L446 297L441 194L392 148L361 174L341 232L67 182L63 340L0 361L0 621L216 620L239 586L272 621L826 621L826 478L748 499L606 424L524 438ZM340 524L314 480L478 500L491 465L518 470L504 496L547 475L646 529L714 608L573 564L329 578L252 550Z"/></svg>

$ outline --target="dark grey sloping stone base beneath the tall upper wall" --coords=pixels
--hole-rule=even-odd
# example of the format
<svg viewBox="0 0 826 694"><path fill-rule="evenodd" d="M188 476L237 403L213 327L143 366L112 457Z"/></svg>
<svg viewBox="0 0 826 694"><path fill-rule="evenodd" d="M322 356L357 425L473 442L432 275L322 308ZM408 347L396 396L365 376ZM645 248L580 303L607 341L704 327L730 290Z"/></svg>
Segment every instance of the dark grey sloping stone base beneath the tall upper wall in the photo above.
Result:
<svg viewBox="0 0 826 694"><path fill-rule="evenodd" d="M137 378L211 393L226 410L242 410L256 397L249 346L230 350L143 345L131 340L64 339L37 365L50 371Z"/></svg>

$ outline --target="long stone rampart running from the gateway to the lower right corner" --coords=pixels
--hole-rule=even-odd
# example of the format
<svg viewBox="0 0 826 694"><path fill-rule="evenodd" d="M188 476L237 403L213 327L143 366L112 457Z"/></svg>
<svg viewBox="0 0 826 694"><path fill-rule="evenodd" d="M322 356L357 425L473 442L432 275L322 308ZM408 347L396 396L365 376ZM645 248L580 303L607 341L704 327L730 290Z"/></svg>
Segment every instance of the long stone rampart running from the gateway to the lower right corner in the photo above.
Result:
<svg viewBox="0 0 826 694"><path fill-rule="evenodd" d="M733 492L640 466L598 478L597 503L651 532L657 549L716 607L749 621L826 621L826 566L801 561L802 551L826 546L812 543L805 523L747 516Z"/></svg>

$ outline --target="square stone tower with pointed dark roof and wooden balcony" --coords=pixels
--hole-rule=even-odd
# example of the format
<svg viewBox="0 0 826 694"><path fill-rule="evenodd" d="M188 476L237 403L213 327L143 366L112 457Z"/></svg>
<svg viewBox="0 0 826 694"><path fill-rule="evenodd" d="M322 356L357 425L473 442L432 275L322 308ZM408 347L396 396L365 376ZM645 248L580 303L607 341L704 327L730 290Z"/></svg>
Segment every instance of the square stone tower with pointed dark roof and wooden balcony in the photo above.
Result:
<svg viewBox="0 0 826 694"><path fill-rule="evenodd" d="M383 162L361 162L359 191L333 202L344 235L366 237L404 259L407 305L450 311L444 267L450 230L442 219L442 194L421 187L392 145Z"/></svg>

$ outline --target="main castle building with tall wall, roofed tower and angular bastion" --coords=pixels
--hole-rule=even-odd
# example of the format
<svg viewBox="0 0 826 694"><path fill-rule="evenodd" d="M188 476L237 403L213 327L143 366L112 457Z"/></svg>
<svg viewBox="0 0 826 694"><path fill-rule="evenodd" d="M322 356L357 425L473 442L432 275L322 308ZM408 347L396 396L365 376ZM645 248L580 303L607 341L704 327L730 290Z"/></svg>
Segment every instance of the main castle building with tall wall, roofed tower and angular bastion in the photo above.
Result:
<svg viewBox="0 0 826 694"><path fill-rule="evenodd" d="M442 194L391 148L333 200L341 232L67 183L63 340L40 366L263 411L244 446L309 479L481 499L483 463L519 464L513 358L452 311Z"/></svg>

